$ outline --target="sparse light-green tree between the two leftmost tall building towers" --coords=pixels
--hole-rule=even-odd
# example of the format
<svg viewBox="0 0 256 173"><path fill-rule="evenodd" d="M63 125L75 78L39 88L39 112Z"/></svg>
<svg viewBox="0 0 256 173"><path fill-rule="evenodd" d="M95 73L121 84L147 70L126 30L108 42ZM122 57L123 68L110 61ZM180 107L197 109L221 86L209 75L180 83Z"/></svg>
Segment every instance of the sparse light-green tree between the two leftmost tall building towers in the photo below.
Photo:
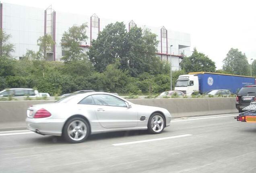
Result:
<svg viewBox="0 0 256 173"><path fill-rule="evenodd" d="M69 28L68 31L64 32L61 39L62 48L64 50L62 60L68 62L71 60L81 60L85 57L85 52L83 48L81 48L81 44L88 39L86 35L87 27L86 23L81 26L74 25Z"/></svg>

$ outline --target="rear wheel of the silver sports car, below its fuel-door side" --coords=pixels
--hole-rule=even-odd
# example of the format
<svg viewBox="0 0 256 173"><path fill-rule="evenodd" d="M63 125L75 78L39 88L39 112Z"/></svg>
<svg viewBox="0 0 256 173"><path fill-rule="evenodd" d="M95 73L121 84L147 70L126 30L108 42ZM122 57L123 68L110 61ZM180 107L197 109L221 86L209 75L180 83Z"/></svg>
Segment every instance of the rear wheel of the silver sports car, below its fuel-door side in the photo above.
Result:
<svg viewBox="0 0 256 173"><path fill-rule="evenodd" d="M91 132L90 126L81 117L68 120L63 127L63 137L70 143L81 143L87 139Z"/></svg>

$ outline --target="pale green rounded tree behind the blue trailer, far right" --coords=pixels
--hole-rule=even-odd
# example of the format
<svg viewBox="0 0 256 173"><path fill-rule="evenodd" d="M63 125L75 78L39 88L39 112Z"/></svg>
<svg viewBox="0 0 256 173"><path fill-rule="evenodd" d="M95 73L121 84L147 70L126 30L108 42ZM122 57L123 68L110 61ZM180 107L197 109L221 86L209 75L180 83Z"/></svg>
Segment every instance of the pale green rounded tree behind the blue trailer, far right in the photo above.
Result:
<svg viewBox="0 0 256 173"><path fill-rule="evenodd" d="M245 54L231 48L223 60L223 70L237 75L250 75L250 66Z"/></svg>

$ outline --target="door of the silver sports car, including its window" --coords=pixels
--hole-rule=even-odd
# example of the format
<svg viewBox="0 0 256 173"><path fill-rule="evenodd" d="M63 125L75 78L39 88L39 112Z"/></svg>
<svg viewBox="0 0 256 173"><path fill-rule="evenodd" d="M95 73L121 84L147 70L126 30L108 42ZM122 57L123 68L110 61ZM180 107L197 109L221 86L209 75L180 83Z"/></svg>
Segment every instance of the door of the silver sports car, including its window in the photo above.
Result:
<svg viewBox="0 0 256 173"><path fill-rule="evenodd" d="M138 123L136 108L128 108L125 101L111 95L97 94L92 97L97 105L96 115L102 127L136 127Z"/></svg>

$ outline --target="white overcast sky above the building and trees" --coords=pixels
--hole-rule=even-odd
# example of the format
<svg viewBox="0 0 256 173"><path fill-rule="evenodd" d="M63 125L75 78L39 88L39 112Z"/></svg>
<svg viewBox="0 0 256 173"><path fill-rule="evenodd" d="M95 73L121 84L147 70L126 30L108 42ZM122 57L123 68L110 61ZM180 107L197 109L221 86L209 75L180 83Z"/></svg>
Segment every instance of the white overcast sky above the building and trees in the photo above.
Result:
<svg viewBox="0 0 256 173"><path fill-rule="evenodd" d="M208 55L217 69L230 48L256 59L256 1L254 0L2 0L58 12L134 20L147 26L165 26L191 36L191 48Z"/></svg>

